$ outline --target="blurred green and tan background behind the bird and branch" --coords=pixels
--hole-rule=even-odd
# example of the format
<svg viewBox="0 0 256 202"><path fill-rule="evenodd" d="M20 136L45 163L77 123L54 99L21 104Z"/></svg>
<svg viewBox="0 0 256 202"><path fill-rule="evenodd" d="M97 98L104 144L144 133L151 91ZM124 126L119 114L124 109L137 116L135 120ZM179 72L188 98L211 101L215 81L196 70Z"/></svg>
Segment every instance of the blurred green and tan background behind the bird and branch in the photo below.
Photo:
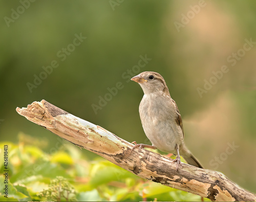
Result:
<svg viewBox="0 0 256 202"><path fill-rule="evenodd" d="M256 192L255 2L0 5L1 141L26 134L49 151L57 136L15 111L45 99L129 142L150 144L138 112L143 91L130 78L157 71L179 107L191 152Z"/></svg>

